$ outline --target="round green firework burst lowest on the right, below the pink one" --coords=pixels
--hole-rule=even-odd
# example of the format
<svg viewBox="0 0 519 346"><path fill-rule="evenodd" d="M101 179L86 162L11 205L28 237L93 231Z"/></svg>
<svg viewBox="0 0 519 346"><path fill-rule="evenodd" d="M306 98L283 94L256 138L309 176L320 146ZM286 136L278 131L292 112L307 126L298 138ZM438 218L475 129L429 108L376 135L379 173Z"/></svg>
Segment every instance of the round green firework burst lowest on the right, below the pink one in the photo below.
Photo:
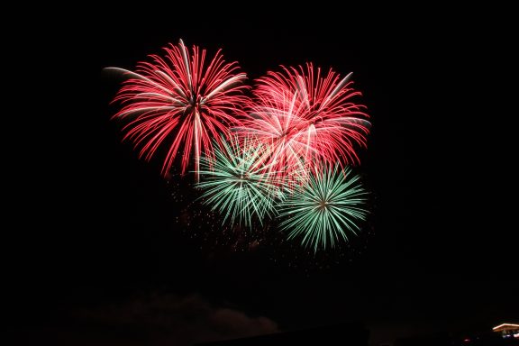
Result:
<svg viewBox="0 0 519 346"><path fill-rule="evenodd" d="M289 232L288 239L303 237L302 244L317 251L360 231L358 222L368 215L363 207L368 192L351 168L338 168L319 169L281 204L280 216L286 220L280 227Z"/></svg>

